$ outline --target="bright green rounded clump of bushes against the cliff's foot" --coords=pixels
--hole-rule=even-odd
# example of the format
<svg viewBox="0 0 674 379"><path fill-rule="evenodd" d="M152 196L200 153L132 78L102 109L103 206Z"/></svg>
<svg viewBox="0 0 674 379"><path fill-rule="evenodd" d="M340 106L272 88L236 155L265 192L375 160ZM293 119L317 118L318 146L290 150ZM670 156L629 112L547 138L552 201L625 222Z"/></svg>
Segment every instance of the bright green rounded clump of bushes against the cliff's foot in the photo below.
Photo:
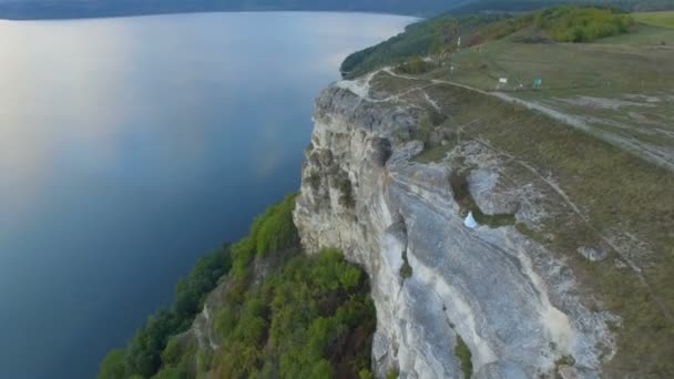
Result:
<svg viewBox="0 0 674 379"><path fill-rule="evenodd" d="M216 314L223 377L357 377L369 367L375 310L362 272L341 253L295 254Z"/></svg>

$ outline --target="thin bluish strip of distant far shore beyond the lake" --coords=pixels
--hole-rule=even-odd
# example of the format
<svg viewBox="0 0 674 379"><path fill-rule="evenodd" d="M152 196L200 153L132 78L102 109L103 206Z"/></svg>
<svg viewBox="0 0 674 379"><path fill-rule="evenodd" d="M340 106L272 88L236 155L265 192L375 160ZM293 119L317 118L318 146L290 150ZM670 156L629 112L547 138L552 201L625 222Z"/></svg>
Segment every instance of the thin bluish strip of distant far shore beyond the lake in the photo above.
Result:
<svg viewBox="0 0 674 379"><path fill-rule="evenodd" d="M580 0L415 0L396 3L387 0L326 0L321 6L309 0L296 0L294 4L273 7L257 6L261 0L239 3L242 0L0 0L0 20L81 20L159 14L215 13L215 12L343 12L409 16L428 18L442 13L473 14L479 12L522 12L532 11L553 3L583 3ZM279 0L284 2L288 0ZM356 0L353 0L356 1ZM671 10L672 6L661 4L660 0L595 0L605 6L614 6L627 12ZM253 4L251 4L253 2ZM586 1L585 1L586 2Z"/></svg>

